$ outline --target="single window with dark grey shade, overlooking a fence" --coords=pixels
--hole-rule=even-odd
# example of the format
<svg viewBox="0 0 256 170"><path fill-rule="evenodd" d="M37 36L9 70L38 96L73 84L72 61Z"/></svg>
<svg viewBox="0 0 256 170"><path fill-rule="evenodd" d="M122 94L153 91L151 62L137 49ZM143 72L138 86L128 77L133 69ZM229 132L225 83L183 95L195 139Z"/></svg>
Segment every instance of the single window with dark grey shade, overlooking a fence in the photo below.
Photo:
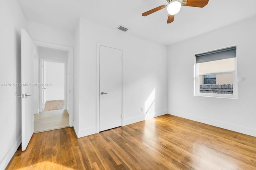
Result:
<svg viewBox="0 0 256 170"><path fill-rule="evenodd" d="M195 56L194 95L237 98L236 47Z"/></svg>

